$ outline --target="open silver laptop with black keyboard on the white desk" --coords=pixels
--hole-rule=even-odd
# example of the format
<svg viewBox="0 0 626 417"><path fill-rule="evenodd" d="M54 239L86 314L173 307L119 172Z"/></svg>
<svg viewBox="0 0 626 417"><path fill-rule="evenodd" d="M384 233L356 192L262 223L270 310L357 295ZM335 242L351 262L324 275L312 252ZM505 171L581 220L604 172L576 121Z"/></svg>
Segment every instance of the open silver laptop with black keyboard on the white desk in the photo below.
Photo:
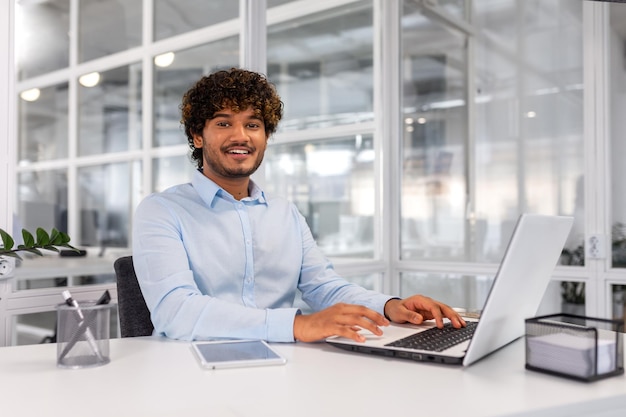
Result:
<svg viewBox="0 0 626 417"><path fill-rule="evenodd" d="M441 330L431 321L420 326L392 324L383 328L382 336L363 331L363 343L342 337L326 342L354 352L468 366L524 335L524 320L537 313L573 221L565 216L519 217L480 319L466 319L466 329ZM457 339L452 346L432 340L445 338L447 332ZM412 342L414 338L426 341Z"/></svg>

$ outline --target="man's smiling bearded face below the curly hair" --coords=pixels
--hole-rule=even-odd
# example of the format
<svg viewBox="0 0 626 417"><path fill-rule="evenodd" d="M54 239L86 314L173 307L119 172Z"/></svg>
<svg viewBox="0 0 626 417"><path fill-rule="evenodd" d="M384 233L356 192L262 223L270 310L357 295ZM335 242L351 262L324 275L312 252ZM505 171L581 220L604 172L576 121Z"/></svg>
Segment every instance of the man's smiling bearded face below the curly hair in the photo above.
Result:
<svg viewBox="0 0 626 417"><path fill-rule="evenodd" d="M234 112L224 108L206 121L202 134L193 135L202 149L202 172L230 192L227 184L247 181L261 162L267 147L263 119L251 109Z"/></svg>

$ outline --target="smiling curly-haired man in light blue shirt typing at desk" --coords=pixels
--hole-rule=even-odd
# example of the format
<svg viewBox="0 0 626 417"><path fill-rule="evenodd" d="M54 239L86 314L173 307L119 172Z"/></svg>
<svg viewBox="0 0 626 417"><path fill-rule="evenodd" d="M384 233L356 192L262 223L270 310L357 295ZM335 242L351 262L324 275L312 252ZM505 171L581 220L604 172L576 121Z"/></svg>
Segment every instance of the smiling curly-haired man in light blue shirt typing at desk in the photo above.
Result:
<svg viewBox="0 0 626 417"><path fill-rule="evenodd" d="M364 341L389 321L447 317L449 306L416 295L393 298L350 284L317 247L304 217L250 180L283 104L262 75L242 69L200 79L181 104L198 170L190 183L141 202L133 259L157 333L184 340L251 338L310 342L338 335ZM315 311L293 307L296 290Z"/></svg>

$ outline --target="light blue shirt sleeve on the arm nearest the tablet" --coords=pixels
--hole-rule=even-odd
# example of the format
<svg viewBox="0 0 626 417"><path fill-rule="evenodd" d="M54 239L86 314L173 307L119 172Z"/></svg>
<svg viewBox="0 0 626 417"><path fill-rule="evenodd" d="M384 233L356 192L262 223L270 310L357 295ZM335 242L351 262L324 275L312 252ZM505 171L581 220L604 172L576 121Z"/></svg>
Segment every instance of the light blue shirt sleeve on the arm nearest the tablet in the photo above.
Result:
<svg viewBox="0 0 626 417"><path fill-rule="evenodd" d="M158 196L142 201L134 216L133 263L155 331L181 340L293 342L297 308L251 308L201 293L180 223Z"/></svg>

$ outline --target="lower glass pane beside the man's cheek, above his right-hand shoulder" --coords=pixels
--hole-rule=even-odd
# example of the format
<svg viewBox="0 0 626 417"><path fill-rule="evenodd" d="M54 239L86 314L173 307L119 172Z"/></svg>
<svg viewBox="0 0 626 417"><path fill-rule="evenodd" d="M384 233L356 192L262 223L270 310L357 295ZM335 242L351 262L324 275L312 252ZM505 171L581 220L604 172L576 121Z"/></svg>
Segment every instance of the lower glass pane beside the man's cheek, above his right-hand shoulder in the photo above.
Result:
<svg viewBox="0 0 626 417"><path fill-rule="evenodd" d="M292 201L328 256L374 255L374 150L371 135L273 145L265 155L270 195Z"/></svg>

